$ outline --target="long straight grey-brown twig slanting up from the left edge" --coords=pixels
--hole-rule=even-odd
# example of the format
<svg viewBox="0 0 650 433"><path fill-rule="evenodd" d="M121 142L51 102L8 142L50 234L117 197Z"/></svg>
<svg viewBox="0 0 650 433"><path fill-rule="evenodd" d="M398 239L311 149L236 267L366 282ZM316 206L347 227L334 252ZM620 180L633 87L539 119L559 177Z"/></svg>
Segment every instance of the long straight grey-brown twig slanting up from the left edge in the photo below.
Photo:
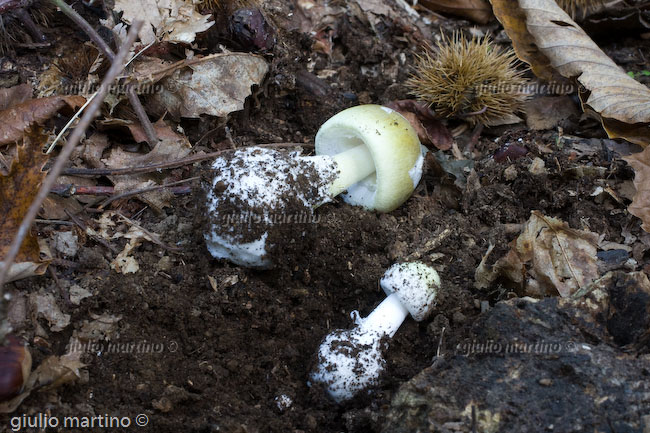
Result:
<svg viewBox="0 0 650 433"><path fill-rule="evenodd" d="M58 158L56 159L56 162L54 163L49 173L47 174L47 177L43 181L41 188L38 190L38 193L36 194L34 201L32 202L22 222L20 223L20 227L18 227L18 231L16 232L13 242L11 243L11 247L9 248L9 251L4 257L2 264L0 265L0 299L3 298L2 296L3 286L7 279L9 268L11 267L16 256L18 255L20 246L22 245L23 240L29 233L30 227L34 222L34 219L36 218L36 215L38 214L41 205L47 198L47 195L50 189L52 188L52 186L54 185L54 183L56 182L56 179L63 171L64 165L68 163L70 154L72 154L72 151L79 144L81 137L86 133L88 126L93 121L96 114L99 112L100 105L103 103L104 98L108 94L110 85L113 83L113 80L115 80L115 78L120 74L120 72L122 72L124 68L124 64L126 63L126 57L128 56L131 46L135 42L135 39L138 36L138 31L140 30L141 27L142 27L141 21L134 21L133 24L131 25L131 29L129 30L126 41L120 48L120 51L117 53L117 56L115 56L113 64L111 64L110 69L106 73L106 76L102 81L97 97L93 100L93 102L88 107L88 110L86 110L84 115L81 117L81 120L79 121L79 125L77 125L77 128L75 128L75 130L72 131L72 133L70 134L68 141L61 149L61 153L59 154Z"/></svg>

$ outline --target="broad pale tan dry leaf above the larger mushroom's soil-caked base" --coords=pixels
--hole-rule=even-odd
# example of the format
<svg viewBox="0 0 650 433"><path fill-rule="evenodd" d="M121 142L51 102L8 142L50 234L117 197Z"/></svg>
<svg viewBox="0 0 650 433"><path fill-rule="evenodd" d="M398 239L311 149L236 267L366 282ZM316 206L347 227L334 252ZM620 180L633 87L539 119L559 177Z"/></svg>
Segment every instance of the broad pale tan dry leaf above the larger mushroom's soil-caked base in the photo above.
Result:
<svg viewBox="0 0 650 433"><path fill-rule="evenodd" d="M262 57L248 53L213 54L188 63L149 98L175 118L224 117L242 110L251 86L259 85L269 69Z"/></svg>

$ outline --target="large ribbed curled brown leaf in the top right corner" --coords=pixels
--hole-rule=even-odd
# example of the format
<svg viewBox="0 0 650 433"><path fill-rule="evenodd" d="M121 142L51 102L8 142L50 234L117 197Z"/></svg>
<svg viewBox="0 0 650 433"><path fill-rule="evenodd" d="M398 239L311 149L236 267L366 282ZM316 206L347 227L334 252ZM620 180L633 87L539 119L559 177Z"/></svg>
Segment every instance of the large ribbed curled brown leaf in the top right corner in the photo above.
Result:
<svg viewBox="0 0 650 433"><path fill-rule="evenodd" d="M583 109L600 117L611 138L650 143L650 89L602 52L553 0L492 0L520 59L539 77L554 71L583 87Z"/></svg>

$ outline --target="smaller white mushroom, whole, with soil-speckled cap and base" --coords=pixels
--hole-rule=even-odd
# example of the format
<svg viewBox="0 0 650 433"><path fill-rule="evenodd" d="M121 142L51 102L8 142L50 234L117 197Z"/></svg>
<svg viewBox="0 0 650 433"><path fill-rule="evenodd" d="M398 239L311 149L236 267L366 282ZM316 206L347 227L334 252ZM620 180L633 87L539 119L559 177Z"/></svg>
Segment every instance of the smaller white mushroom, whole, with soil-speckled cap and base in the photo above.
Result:
<svg viewBox="0 0 650 433"><path fill-rule="evenodd" d="M338 329L320 344L308 385L322 384L338 403L377 384L386 364L382 343L395 335L409 313L416 321L429 315L440 277L424 263L401 263L386 271L380 285L387 297L368 317L362 319L358 311L353 311L356 326Z"/></svg>

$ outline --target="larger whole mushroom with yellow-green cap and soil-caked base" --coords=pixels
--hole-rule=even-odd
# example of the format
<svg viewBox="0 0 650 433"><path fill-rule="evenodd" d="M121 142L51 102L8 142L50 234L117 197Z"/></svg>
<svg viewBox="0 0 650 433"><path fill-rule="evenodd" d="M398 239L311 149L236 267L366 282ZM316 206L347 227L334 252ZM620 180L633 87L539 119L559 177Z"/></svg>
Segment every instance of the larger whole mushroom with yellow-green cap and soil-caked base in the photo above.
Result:
<svg viewBox="0 0 650 433"><path fill-rule="evenodd" d="M309 222L315 208L345 191L352 205L390 212L422 176L417 133L387 107L341 111L321 126L315 147L315 156L247 147L215 160L204 183L205 240L214 257L271 268L269 232L278 223Z"/></svg>

